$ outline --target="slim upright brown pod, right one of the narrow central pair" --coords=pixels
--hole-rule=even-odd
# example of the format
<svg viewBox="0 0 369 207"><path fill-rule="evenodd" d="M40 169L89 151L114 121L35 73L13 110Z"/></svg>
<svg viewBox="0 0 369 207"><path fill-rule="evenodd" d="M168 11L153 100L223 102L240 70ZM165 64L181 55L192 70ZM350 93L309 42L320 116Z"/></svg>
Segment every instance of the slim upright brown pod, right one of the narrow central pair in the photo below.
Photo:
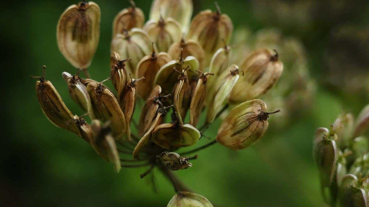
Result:
<svg viewBox="0 0 369 207"><path fill-rule="evenodd" d="M201 110L203 109L205 103L206 85L208 81L207 76L214 75L213 73L200 73L201 77L199 81L197 81L196 88L192 90L193 95L190 104L190 124L194 127L196 127L197 122L199 122Z"/></svg>

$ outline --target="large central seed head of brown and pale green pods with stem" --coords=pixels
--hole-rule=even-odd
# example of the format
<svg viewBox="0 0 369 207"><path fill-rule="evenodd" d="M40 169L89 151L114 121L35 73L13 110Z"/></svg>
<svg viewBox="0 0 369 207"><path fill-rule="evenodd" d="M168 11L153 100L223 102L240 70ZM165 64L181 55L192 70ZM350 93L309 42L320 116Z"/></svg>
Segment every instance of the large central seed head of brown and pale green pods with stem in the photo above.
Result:
<svg viewBox="0 0 369 207"><path fill-rule="evenodd" d="M210 207L207 199L189 192L172 171L192 167L189 161L197 155L183 155L215 143L240 150L260 140L268 129L269 115L280 112L267 112L266 104L257 99L282 74L279 53L259 45L247 57L242 50L238 51L241 57L232 57L227 44L233 24L217 4L215 12L202 11L189 23L192 1L155 0L151 20L145 25L144 13L133 1L131 5L114 18L110 77L102 81L91 79L88 73L99 43L100 8L96 3L82 1L66 9L59 19L57 41L62 54L78 71L62 75L70 97L86 114L70 112L52 83L45 79L46 66L41 77L33 77L39 79L38 101L52 123L82 137L97 154L114 164L116 172L122 167L148 166L140 175L144 178L158 168L177 192L169 207ZM183 32L187 35L182 36ZM293 49L290 53L301 53L299 47ZM299 56L290 56L287 49L284 52L288 54L288 64L305 61L294 60ZM234 58L243 59L240 67L231 64ZM80 71L86 78L80 77ZM116 93L104 85L109 80ZM139 110L135 110L136 105ZM230 107L234 108L223 113ZM206 120L197 127L204 111ZM135 112L140 113L139 120L135 120ZM169 118L167 113L171 113ZM195 145L221 114L225 118L216 139L191 151L175 152ZM91 124L85 116L90 117Z"/></svg>

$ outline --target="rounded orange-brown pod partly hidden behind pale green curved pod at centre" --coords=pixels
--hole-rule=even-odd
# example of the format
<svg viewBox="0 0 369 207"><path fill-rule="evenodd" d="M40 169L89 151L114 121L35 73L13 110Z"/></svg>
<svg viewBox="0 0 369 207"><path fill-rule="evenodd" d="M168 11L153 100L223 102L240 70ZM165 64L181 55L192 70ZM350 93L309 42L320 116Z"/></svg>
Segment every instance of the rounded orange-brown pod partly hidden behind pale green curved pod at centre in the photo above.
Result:
<svg viewBox="0 0 369 207"><path fill-rule="evenodd" d="M183 58L194 56L199 61L199 70L204 71L205 51L201 45L193 40L186 41L184 38L180 42L173 43L168 50L168 54L173 59L178 59L183 50Z"/></svg>

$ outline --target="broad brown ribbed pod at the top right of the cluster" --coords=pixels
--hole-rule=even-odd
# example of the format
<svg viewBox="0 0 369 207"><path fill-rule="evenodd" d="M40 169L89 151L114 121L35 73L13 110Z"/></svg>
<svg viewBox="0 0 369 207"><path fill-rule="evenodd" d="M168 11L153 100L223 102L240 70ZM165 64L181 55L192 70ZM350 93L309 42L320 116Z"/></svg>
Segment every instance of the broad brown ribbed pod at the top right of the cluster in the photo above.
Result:
<svg viewBox="0 0 369 207"><path fill-rule="evenodd" d="M217 11L205 10L193 18L188 39L200 43L206 53L206 63L218 48L223 46L222 39L229 42L233 32L233 23L228 15L222 14L217 6Z"/></svg>

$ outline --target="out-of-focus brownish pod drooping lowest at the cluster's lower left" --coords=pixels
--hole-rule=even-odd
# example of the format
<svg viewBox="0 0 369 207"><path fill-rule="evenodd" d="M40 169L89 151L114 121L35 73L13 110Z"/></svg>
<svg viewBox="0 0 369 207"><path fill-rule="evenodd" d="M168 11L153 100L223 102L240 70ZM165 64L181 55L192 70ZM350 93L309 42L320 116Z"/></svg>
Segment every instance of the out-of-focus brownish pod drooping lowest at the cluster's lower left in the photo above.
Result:
<svg viewBox="0 0 369 207"><path fill-rule="evenodd" d="M97 154L114 164L114 170L118 173L121 169L120 158L117 145L111 135L110 123L109 121L101 126L100 120L92 120L91 128L94 134L92 145Z"/></svg>

